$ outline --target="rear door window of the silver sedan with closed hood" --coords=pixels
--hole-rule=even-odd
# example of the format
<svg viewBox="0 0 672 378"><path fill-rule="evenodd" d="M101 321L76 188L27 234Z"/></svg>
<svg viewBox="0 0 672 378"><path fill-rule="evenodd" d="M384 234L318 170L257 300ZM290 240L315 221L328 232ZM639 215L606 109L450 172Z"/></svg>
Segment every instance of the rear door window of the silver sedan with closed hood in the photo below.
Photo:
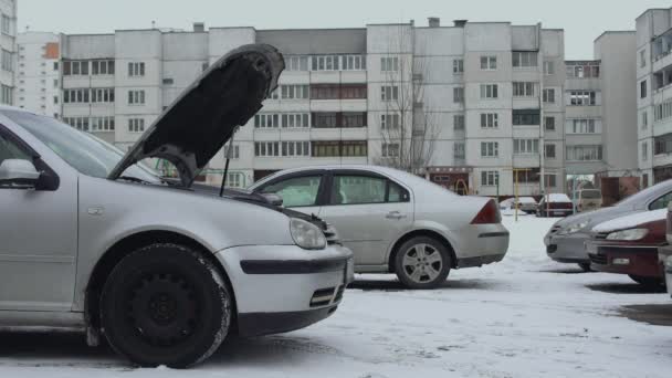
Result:
<svg viewBox="0 0 672 378"><path fill-rule="evenodd" d="M370 176L334 176L332 204L384 203L387 179Z"/></svg>

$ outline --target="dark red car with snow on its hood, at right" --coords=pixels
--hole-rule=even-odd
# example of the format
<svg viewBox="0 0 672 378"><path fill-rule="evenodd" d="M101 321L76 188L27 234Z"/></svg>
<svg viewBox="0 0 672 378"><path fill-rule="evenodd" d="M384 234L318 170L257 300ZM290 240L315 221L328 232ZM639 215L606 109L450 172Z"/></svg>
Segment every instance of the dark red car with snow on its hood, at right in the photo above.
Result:
<svg viewBox="0 0 672 378"><path fill-rule="evenodd" d="M628 274L648 287L664 285L658 249L665 243L668 210L627 214L596 225L586 243L590 267Z"/></svg>

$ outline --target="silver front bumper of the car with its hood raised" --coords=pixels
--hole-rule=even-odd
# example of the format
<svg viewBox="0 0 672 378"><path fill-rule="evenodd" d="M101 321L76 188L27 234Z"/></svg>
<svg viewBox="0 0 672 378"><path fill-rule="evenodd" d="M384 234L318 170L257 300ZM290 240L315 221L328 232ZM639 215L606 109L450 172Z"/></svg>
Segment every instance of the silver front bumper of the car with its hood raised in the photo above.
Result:
<svg viewBox="0 0 672 378"><path fill-rule="evenodd" d="M353 253L340 245L245 245L219 251L243 337L300 329L332 315L354 280Z"/></svg>

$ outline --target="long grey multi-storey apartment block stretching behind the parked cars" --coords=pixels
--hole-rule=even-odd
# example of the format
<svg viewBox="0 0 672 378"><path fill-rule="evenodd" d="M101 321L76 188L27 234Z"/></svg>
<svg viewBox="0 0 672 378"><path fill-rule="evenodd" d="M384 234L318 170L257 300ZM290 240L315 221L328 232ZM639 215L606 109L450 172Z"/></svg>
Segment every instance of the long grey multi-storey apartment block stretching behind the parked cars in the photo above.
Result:
<svg viewBox="0 0 672 378"><path fill-rule="evenodd" d="M577 62L566 69L564 32L540 24L442 27L435 18L428 27L361 29L195 24L59 40L62 118L122 148L222 54L246 43L276 46L286 63L280 86L210 161L204 177L212 182L221 180L224 151L235 187L284 168L382 164L460 192L535 196L566 191L568 171L609 171L608 133L590 141L599 145L590 164L575 161L588 154L584 136L567 133L587 118L588 108L574 109L579 97L590 102L580 91L602 84L567 80ZM602 45L596 43L596 54L603 51L605 61ZM590 117L603 130L596 104Z"/></svg>

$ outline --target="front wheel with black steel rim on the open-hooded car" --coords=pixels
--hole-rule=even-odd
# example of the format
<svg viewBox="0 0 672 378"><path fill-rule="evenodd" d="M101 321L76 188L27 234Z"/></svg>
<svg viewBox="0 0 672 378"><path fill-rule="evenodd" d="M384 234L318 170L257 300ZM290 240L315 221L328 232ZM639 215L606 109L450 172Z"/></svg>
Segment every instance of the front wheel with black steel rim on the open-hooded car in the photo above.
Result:
<svg viewBox="0 0 672 378"><path fill-rule="evenodd" d="M112 348L134 364L187 368L227 337L231 294L198 252L153 244L124 258L101 296L101 324Z"/></svg>

